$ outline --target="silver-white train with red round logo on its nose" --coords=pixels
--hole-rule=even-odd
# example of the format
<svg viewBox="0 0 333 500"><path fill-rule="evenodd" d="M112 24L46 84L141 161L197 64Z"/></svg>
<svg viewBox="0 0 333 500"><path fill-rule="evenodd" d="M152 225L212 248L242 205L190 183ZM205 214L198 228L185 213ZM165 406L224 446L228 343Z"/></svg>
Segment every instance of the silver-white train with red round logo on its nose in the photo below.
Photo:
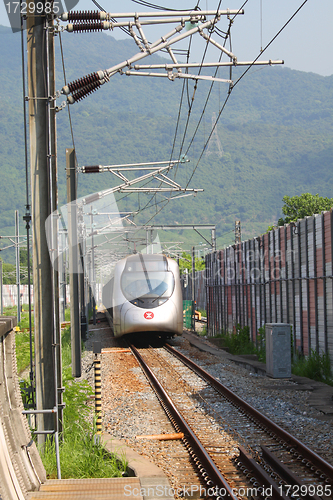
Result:
<svg viewBox="0 0 333 500"><path fill-rule="evenodd" d="M183 298L177 263L161 254L136 253L117 262L103 287L103 304L115 337L183 332Z"/></svg>

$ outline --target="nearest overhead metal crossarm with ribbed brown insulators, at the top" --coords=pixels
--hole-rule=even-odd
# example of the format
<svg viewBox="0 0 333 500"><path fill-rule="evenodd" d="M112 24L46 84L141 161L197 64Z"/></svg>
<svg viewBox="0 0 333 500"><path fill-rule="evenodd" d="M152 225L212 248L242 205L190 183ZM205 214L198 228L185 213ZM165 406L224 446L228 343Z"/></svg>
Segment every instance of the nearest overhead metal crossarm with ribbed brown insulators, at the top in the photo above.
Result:
<svg viewBox="0 0 333 500"><path fill-rule="evenodd" d="M60 93L67 95L67 103L74 104L92 92L95 92L101 85L108 82L116 73L125 74L127 76L140 75L160 78L164 77L169 78L171 81L174 81L177 78L186 78L195 81L206 80L210 82L216 81L232 84L232 80L230 79L222 79L215 76L201 74L183 74L181 67L178 66L178 61L171 47L174 44L183 41L185 38L199 33L207 41L207 43L214 45L222 54L229 57L233 64L237 64L237 57L230 50L227 50L224 46L213 40L211 31L214 29L214 26L219 22L222 16L230 18L230 16L236 16L243 13L244 11L242 9L140 13L66 12L60 16L60 19L71 22L63 28L63 30L66 29L69 32L83 32L113 30L115 28L127 27L129 34L139 47L140 52L131 58L116 64L115 66L91 73L90 75L65 85ZM208 17L211 18L208 19ZM119 21L116 19L119 19ZM144 26L168 23L177 23L177 26L166 35L157 39L155 42L150 43L144 33ZM207 33L205 30L207 30ZM172 67L177 68L175 73L169 69L167 69L167 74L137 72L137 67L135 67L136 71L132 71L134 63L162 50L169 54L173 63ZM216 67L217 65L215 64L212 66ZM57 110L60 111L63 109L64 105L65 103L58 107Z"/></svg>

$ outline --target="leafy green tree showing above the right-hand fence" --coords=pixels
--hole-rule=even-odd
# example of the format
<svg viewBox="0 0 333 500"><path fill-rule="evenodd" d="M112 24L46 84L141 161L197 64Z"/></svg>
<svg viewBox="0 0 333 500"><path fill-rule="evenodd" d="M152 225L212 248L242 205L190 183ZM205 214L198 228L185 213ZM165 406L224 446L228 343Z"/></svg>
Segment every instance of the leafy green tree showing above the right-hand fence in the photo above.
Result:
<svg viewBox="0 0 333 500"><path fill-rule="evenodd" d="M282 200L284 202L282 213L286 217L278 220L279 226L309 215L319 214L333 207L333 198L322 197L318 194L303 193L300 196L284 196Z"/></svg>

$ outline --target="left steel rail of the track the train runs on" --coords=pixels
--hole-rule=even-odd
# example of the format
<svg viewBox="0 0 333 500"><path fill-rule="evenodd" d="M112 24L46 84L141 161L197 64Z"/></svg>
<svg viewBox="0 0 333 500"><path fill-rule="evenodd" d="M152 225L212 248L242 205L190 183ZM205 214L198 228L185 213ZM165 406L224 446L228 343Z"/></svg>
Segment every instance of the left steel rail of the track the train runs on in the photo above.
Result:
<svg viewBox="0 0 333 500"><path fill-rule="evenodd" d="M183 441L185 442L185 444L187 444L187 447L189 448L189 452L192 455L192 458L194 460L195 458L197 458L200 461L201 466L204 467L203 470L202 467L198 466L200 473L207 482L207 486L213 487L215 485L215 487L218 487L220 491L222 490L226 492L225 495L226 498L231 498L232 500L238 500L237 496L235 496L234 493L232 492L232 487L229 485L229 483L227 482L223 474L220 472L220 470L217 468L215 462L212 460L212 458L207 453L206 449L201 444L196 434L193 432L193 430L188 425L182 414L179 412L178 408L171 400L166 390L157 380L152 370L149 368L149 366L147 366L139 351L133 344L129 344L129 347L132 350L138 362L140 363L145 375L147 376L151 386L156 392L169 418L171 418L171 421L175 426L176 430L178 432L184 433Z"/></svg>

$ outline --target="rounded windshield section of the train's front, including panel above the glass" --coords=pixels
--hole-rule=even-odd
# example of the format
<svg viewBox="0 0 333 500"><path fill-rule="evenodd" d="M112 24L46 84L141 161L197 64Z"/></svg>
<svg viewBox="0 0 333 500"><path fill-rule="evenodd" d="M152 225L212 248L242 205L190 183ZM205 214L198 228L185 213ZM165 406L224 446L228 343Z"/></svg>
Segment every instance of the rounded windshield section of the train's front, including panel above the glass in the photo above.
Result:
<svg viewBox="0 0 333 500"><path fill-rule="evenodd" d="M127 259L121 289L132 304L157 307L171 297L174 287L175 279L164 256L136 254Z"/></svg>

